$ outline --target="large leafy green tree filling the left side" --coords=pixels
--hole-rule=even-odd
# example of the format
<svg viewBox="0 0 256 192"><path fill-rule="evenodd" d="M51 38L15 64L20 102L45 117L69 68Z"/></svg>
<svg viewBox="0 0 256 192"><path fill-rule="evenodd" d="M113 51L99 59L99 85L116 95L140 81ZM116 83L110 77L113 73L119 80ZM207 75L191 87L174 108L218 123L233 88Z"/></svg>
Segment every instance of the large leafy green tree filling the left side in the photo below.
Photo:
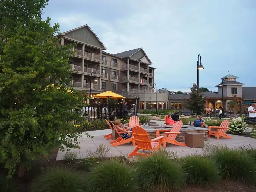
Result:
<svg viewBox="0 0 256 192"><path fill-rule="evenodd" d="M71 46L54 37L58 24L41 19L47 2L0 2L0 164L9 175L19 166L22 176L53 147L78 148L72 110L83 97L67 88Z"/></svg>

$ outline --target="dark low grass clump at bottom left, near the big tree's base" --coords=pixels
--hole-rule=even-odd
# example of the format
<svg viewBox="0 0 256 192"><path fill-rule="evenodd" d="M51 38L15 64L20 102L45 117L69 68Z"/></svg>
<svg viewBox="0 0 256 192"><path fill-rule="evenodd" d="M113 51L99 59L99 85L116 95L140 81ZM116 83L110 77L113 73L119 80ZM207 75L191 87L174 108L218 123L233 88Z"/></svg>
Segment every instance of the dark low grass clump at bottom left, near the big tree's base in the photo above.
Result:
<svg viewBox="0 0 256 192"><path fill-rule="evenodd" d="M31 192L84 192L86 179L78 172L66 169L49 169L35 179Z"/></svg>

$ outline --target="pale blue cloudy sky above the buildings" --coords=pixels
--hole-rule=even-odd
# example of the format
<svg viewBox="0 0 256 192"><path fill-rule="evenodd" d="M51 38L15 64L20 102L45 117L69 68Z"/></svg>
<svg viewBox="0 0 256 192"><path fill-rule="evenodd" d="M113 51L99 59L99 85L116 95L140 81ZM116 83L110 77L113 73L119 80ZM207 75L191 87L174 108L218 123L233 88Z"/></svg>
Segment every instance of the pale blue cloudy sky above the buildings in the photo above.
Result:
<svg viewBox="0 0 256 192"><path fill-rule="evenodd" d="M50 0L47 17L61 32L88 24L112 54L142 47L157 88L189 92L198 54L200 87L217 91L228 71L256 86L255 0Z"/></svg>

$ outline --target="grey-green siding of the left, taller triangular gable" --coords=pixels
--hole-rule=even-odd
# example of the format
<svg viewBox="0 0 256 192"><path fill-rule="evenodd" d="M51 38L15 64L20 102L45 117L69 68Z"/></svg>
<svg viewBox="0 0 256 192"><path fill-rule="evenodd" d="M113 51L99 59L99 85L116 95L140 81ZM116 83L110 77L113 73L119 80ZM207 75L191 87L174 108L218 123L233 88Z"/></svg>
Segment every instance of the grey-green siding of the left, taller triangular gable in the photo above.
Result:
<svg viewBox="0 0 256 192"><path fill-rule="evenodd" d="M71 31L65 35L69 38L104 49L104 46L99 42L97 37L90 31L88 27L83 27L81 29Z"/></svg>

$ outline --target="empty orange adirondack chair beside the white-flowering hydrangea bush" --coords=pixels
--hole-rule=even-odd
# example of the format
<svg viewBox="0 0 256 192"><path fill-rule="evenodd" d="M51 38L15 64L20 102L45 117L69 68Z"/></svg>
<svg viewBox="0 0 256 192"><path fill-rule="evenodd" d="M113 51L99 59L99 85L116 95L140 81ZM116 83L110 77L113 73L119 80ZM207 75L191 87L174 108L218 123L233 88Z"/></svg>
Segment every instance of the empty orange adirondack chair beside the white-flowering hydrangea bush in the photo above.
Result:
<svg viewBox="0 0 256 192"><path fill-rule="evenodd" d="M228 139L232 139L232 137L228 136L226 134L226 131L228 130L229 120L224 120L221 122L221 125L218 126L209 126L208 127L208 137L210 138L210 135L217 136L217 140L219 140L219 137L224 137ZM212 131L211 128L217 128L217 131Z"/></svg>

